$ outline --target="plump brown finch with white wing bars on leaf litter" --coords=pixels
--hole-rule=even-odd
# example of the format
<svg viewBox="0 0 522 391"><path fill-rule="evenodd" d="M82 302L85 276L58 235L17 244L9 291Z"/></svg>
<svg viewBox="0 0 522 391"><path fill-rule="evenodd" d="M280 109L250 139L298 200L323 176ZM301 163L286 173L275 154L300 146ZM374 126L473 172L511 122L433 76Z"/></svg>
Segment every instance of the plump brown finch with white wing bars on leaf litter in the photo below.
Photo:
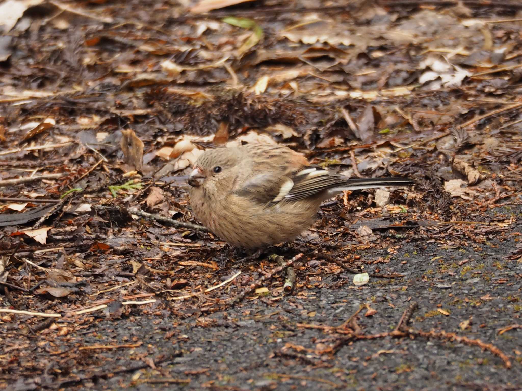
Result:
<svg viewBox="0 0 522 391"><path fill-rule="evenodd" d="M207 150L188 179L196 217L231 245L259 249L293 240L321 203L343 190L411 186L408 178L346 179L286 146Z"/></svg>

